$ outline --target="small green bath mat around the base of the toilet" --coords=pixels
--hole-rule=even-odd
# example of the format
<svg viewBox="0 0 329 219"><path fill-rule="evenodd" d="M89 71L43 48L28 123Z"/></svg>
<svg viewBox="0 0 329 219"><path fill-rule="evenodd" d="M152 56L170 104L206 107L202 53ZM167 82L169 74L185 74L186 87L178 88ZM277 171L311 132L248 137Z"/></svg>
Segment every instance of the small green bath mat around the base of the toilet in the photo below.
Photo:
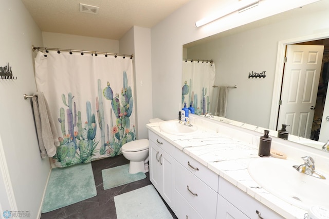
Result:
<svg viewBox="0 0 329 219"><path fill-rule="evenodd" d="M129 164L102 170L104 190L146 178L145 173L129 173Z"/></svg>

